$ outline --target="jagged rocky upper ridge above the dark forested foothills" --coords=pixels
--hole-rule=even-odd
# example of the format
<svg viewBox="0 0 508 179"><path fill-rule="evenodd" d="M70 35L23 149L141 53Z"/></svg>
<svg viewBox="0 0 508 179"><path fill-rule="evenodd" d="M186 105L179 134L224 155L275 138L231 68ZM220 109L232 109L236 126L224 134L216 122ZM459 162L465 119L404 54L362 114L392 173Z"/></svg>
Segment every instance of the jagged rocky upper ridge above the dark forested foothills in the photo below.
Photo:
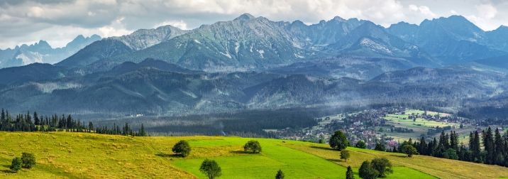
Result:
<svg viewBox="0 0 508 179"><path fill-rule="evenodd" d="M82 54L90 58L79 55L60 65L110 68L126 61L137 63L155 58L193 70L232 72L354 55L399 58L415 66L441 67L508 54L508 45L502 40L508 36L506 33L508 30L502 27L482 31L463 16L425 20L419 25L401 22L384 28L357 18L335 17L306 25L302 21L270 21L245 13L231 21L203 25L190 31L163 26L108 38L119 40L128 48L110 44L111 49L126 50L92 52L83 49L87 53ZM94 55L99 57L92 58Z"/></svg>

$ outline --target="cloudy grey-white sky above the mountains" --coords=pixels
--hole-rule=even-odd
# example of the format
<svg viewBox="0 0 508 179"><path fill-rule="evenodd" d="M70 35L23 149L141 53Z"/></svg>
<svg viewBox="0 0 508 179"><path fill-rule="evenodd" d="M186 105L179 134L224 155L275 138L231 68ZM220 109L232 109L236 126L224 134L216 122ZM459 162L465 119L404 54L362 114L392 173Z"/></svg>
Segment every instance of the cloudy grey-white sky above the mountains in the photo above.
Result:
<svg viewBox="0 0 508 179"><path fill-rule="evenodd" d="M318 23L333 16L382 26L458 14L485 31L508 26L504 0L0 0L0 48L47 40L65 46L82 34L121 36L170 24L184 29L228 21L241 13L275 21Z"/></svg>

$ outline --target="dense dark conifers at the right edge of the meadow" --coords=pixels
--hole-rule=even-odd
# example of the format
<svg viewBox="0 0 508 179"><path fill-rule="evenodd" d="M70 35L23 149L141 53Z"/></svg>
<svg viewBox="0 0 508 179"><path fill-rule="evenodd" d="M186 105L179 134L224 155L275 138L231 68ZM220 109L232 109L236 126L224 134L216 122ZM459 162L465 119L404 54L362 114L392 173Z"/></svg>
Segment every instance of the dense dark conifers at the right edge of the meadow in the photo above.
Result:
<svg viewBox="0 0 508 179"><path fill-rule="evenodd" d="M431 141L426 141L424 137L419 141L409 139L398 148L392 148L392 151L404 153L406 145L412 145L419 154L425 156L508 167L508 131L501 134L497 128L492 130L488 127L482 131L470 132L468 146L459 143L455 131L450 131L450 134L441 131L439 139L434 138Z"/></svg>

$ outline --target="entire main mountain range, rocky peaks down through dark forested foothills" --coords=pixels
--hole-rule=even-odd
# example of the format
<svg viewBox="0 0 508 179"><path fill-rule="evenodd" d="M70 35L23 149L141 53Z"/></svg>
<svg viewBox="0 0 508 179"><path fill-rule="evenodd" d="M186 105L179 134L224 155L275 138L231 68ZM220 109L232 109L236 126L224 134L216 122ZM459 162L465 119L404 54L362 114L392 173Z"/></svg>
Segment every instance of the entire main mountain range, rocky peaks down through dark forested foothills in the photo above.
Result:
<svg viewBox="0 0 508 179"><path fill-rule="evenodd" d="M161 26L103 38L54 65L1 69L0 106L90 117L391 104L508 109L507 38L505 26L482 31L462 16L384 28L245 13L189 31Z"/></svg>

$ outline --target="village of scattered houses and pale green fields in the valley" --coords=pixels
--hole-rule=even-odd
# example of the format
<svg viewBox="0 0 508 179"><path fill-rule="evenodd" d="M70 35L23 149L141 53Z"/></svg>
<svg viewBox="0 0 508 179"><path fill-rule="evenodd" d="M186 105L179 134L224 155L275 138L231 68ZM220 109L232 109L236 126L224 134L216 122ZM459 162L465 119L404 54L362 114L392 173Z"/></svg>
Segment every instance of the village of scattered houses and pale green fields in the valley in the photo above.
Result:
<svg viewBox="0 0 508 179"><path fill-rule="evenodd" d="M341 130L348 134L352 145L365 141L368 148L376 143L384 143L387 148L398 146L409 139L432 140L438 138L441 131L456 131L460 141L468 143L470 131L481 130L482 126L471 123L453 114L430 112L402 107L383 107L365 109L361 112L341 113L316 118L317 126L305 129L273 129L265 130L280 139L298 141L314 141L326 143L333 131ZM500 128L500 126L497 126Z"/></svg>

